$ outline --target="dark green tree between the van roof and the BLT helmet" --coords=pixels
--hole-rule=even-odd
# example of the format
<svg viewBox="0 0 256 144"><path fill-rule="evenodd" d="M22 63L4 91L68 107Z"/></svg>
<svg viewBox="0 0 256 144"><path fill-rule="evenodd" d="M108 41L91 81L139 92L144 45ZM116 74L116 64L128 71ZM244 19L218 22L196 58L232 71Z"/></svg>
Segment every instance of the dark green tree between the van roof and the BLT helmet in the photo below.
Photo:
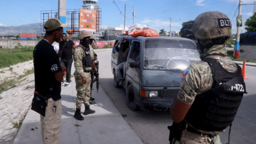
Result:
<svg viewBox="0 0 256 144"><path fill-rule="evenodd" d="M189 38L189 39L196 39L194 36L194 33L192 33L190 30L193 26L194 20L190 20L187 22L182 23L182 28L180 29L180 36L184 38Z"/></svg>

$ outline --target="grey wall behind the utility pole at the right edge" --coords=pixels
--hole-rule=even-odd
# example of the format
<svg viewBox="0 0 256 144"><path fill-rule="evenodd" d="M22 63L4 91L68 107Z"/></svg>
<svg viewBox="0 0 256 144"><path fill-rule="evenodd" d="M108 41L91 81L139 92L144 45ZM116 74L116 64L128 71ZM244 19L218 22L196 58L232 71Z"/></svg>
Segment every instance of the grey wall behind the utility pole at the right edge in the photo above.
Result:
<svg viewBox="0 0 256 144"><path fill-rule="evenodd" d="M256 60L256 45L240 45L240 50L244 50L244 53L239 52L239 59L250 59L250 60ZM233 56L235 57L235 51Z"/></svg>

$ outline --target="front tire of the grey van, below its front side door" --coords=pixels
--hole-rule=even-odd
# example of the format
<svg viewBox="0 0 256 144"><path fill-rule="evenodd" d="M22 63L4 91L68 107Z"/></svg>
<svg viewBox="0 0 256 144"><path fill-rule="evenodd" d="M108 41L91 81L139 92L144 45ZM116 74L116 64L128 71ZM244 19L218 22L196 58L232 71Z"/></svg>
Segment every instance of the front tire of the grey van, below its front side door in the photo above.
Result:
<svg viewBox="0 0 256 144"><path fill-rule="evenodd" d="M131 109L133 111L139 109L139 106L137 105L136 100L135 100L132 84L130 84L128 86L127 91L126 91L126 105L129 109Z"/></svg>

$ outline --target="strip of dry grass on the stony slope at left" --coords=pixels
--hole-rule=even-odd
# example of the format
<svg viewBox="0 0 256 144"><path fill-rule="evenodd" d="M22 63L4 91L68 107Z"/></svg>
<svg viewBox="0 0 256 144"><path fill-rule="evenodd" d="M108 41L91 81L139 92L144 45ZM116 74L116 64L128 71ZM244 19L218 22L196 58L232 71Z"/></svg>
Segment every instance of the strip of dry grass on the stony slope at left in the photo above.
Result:
<svg viewBox="0 0 256 144"><path fill-rule="evenodd" d="M4 91L7 91L9 89L12 89L13 87L16 86L16 84L19 84L20 82L22 81L25 81L26 78L22 79L23 77L26 77L30 74L33 74L34 73L34 69L31 69L31 70L27 70L26 74L25 75L21 75L19 76L17 79L13 79L11 81L8 81L8 82L5 82L5 83L2 83L0 84L0 93L4 92ZM21 80L22 79L22 80ZM20 81L21 80L21 81Z"/></svg>

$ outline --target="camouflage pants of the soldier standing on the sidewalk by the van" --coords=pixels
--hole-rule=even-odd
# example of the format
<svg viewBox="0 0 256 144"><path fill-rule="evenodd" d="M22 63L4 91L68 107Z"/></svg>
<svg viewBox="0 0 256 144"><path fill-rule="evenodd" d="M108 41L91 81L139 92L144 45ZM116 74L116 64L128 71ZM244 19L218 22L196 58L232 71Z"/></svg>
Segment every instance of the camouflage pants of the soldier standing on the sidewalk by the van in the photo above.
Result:
<svg viewBox="0 0 256 144"><path fill-rule="evenodd" d="M86 75L86 81L87 83L82 82L82 78L80 75L75 75L75 81L76 81L76 108L82 107L82 101L84 101L85 106L89 106L89 100L91 97L91 74L90 73L84 73Z"/></svg>

